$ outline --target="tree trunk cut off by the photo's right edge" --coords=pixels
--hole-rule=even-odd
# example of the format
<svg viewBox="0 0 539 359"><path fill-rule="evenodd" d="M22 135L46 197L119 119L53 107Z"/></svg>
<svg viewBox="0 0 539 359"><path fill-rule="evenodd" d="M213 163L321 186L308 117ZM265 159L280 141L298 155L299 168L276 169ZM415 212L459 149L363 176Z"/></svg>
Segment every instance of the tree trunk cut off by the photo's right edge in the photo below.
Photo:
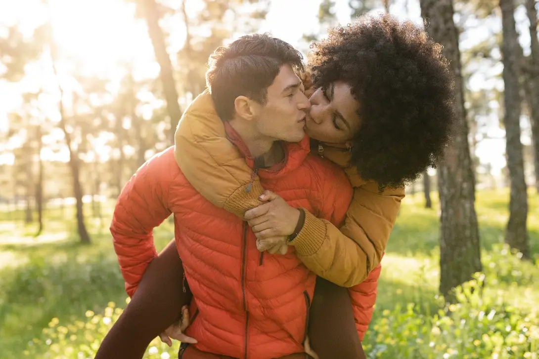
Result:
<svg viewBox="0 0 539 359"><path fill-rule="evenodd" d="M539 193L539 39L537 39L537 10L535 0L526 0L530 20L531 66L524 81L530 108L531 139L534 153L535 188Z"/></svg>

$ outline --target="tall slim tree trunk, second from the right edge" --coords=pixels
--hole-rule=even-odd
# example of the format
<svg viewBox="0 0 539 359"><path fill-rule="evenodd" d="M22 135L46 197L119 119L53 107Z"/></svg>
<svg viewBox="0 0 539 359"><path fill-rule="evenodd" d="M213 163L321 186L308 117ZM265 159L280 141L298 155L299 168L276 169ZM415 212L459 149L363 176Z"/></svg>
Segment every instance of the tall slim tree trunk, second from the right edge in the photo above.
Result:
<svg viewBox="0 0 539 359"><path fill-rule="evenodd" d="M526 222L528 217L528 199L524 179L524 158L520 142L520 57L519 36L515 27L515 5L513 0L500 0L502 12L502 61L503 94L505 115L503 123L506 129L507 167L510 179L509 222L505 241L511 248L522 252L523 258L529 258L529 241Z"/></svg>

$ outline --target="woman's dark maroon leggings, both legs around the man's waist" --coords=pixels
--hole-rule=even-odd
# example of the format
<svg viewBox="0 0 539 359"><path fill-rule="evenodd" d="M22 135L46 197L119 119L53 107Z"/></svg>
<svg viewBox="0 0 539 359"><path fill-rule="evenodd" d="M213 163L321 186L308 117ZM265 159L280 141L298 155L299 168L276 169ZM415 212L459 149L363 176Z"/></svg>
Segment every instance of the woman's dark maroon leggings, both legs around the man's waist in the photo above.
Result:
<svg viewBox="0 0 539 359"><path fill-rule="evenodd" d="M174 241L144 273L133 298L103 339L96 359L140 359L149 343L181 318L181 308L191 301L183 292L183 266ZM309 339L320 359L363 359L348 290L317 278L309 313ZM298 353L281 359L304 358ZM224 358L201 353L189 346L182 359Z"/></svg>

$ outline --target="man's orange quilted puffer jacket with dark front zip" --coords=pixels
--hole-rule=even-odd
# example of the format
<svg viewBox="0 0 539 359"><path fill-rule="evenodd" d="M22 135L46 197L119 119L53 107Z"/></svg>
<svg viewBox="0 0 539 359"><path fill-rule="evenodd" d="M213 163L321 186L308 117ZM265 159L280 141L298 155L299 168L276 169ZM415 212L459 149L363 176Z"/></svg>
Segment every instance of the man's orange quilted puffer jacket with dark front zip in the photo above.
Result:
<svg viewBox="0 0 539 359"><path fill-rule="evenodd" d="M237 134L230 127L227 134L252 166ZM285 152L280 168L258 171L262 185L294 207L341 224L352 196L344 173L309 154L307 138L286 144ZM114 211L110 231L128 293L134 293L156 256L153 228L171 213L177 249L194 295L190 310L196 318L186 334L198 340L197 349L257 359L303 351L315 274L293 248L284 256L259 252L245 222L212 205L189 184L173 147L139 168ZM364 316L365 323L376 295L368 286L375 288L375 282L367 280L366 287L358 286L352 294L356 319Z"/></svg>

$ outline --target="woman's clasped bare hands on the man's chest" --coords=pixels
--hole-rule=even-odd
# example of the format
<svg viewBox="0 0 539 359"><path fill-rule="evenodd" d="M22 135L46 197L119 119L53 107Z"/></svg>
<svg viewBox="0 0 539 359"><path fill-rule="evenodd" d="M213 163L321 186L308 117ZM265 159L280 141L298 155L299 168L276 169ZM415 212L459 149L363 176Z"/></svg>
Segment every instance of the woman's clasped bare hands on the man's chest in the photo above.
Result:
<svg viewBox="0 0 539 359"><path fill-rule="evenodd" d="M294 233L300 211L271 191L264 191L258 199L267 203L245 213L245 220L257 237L257 248L259 251L285 254L287 237Z"/></svg>

